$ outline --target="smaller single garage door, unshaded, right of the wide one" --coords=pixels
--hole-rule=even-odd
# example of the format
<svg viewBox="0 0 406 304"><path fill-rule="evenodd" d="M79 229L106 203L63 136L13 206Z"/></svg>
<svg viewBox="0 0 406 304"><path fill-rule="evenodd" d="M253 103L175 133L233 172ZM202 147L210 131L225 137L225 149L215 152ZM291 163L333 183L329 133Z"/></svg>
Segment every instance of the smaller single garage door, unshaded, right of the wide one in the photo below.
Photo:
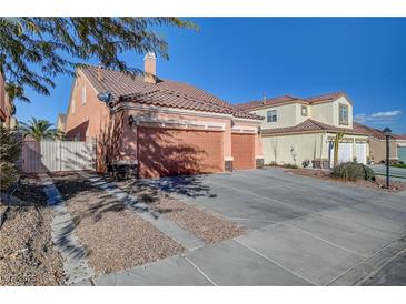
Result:
<svg viewBox="0 0 406 304"><path fill-rule="evenodd" d="M231 134L231 155L234 169L255 168L255 134Z"/></svg>

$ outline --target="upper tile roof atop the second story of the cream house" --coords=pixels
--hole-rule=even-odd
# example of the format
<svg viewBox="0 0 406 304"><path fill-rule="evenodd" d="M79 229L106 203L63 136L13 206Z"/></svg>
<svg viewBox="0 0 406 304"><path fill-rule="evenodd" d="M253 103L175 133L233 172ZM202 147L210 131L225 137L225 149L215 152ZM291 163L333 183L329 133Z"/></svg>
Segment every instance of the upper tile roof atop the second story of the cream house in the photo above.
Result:
<svg viewBox="0 0 406 304"><path fill-rule="evenodd" d="M293 102L293 101L313 104L313 103L318 103L318 102L324 102L324 101L336 100L343 95L345 95L345 92L334 92L334 93L328 93L328 94L306 98L306 99L293 97L293 95L283 95L283 97L271 98L271 99L267 99L267 100L257 100L257 101L252 100L252 101L249 101L246 103L240 103L240 104L238 104L238 107L240 109L247 111L247 110L255 110L255 109L258 109L258 108L261 108L265 105L276 105L276 104L281 104L281 103L287 103L287 102Z"/></svg>

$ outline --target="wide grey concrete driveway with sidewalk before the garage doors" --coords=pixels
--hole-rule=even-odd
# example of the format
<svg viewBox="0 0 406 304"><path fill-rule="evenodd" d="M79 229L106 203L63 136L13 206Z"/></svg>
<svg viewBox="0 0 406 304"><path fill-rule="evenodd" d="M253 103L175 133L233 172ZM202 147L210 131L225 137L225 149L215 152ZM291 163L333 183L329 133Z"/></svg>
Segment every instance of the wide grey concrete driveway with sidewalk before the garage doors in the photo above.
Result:
<svg viewBox="0 0 406 304"><path fill-rule="evenodd" d="M353 188L279 169L148 183L249 232L97 277L95 284L354 285L406 247L405 193Z"/></svg>

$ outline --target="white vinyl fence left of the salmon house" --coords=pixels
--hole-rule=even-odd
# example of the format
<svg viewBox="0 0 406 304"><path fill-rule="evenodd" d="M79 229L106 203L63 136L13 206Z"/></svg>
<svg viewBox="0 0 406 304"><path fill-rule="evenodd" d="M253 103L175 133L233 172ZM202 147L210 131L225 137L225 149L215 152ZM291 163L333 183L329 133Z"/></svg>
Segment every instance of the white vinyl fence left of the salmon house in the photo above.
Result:
<svg viewBox="0 0 406 304"><path fill-rule="evenodd" d="M23 141L21 162L27 173L95 170L96 142Z"/></svg>

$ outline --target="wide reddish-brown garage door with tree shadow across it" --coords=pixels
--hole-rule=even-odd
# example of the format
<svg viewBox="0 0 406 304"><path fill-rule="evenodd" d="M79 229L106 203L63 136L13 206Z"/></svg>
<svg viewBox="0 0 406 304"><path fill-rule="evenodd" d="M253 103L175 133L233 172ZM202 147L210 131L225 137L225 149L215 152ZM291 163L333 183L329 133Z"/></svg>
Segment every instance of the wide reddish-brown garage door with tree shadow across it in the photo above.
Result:
<svg viewBox="0 0 406 304"><path fill-rule="evenodd" d="M222 132L138 128L140 178L222 172Z"/></svg>

